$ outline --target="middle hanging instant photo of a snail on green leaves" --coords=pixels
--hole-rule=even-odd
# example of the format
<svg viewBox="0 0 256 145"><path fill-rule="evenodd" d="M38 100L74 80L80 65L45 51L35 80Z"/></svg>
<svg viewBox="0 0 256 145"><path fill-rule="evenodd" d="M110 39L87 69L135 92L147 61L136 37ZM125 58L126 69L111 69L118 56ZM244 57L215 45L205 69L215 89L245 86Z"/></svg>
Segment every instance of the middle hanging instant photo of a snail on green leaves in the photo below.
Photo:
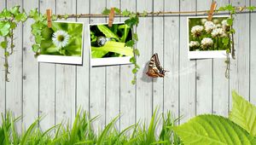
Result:
<svg viewBox="0 0 256 145"><path fill-rule="evenodd" d="M125 46L132 39L131 27L124 23L90 25L90 55L92 66L130 63L133 49Z"/></svg>

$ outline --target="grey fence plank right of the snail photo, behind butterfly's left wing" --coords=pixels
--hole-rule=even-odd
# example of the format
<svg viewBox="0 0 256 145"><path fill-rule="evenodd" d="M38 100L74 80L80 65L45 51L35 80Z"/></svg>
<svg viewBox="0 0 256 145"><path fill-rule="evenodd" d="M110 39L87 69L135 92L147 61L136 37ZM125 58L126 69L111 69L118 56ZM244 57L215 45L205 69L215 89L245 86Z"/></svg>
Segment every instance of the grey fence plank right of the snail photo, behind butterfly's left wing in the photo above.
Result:
<svg viewBox="0 0 256 145"><path fill-rule="evenodd" d="M137 1L137 11L143 12L143 10L152 11L153 1ZM138 38L140 38L137 48L140 49L142 54L137 58L137 63L141 66L137 73L137 120L145 120L146 125L148 125L153 111L152 78L148 78L146 75L148 61L153 50L152 20L151 17L140 17L139 25L137 26L137 34Z"/></svg>

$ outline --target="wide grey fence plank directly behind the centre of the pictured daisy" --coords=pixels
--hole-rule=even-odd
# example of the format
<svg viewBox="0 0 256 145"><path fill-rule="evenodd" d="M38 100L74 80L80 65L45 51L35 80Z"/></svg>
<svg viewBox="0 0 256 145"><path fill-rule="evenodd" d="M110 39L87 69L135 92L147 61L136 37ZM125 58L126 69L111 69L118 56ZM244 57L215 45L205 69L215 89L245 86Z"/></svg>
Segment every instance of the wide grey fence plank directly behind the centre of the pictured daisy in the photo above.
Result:
<svg viewBox="0 0 256 145"><path fill-rule="evenodd" d="M76 2L56 0L56 14L76 14ZM66 21L66 20L65 20ZM67 19L75 21L75 19ZM76 101L76 66L55 66L55 121L61 123L64 119L73 123L75 118Z"/></svg>

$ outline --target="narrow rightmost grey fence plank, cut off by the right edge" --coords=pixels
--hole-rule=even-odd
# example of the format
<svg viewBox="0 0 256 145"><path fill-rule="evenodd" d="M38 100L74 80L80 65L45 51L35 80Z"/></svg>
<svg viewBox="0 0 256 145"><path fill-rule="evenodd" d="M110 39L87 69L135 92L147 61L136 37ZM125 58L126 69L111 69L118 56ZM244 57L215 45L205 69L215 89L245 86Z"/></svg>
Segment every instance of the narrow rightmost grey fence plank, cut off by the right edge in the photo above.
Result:
<svg viewBox="0 0 256 145"><path fill-rule="evenodd" d="M251 0L251 5L255 6L256 1ZM250 102L256 105L256 14L252 13L250 19Z"/></svg>

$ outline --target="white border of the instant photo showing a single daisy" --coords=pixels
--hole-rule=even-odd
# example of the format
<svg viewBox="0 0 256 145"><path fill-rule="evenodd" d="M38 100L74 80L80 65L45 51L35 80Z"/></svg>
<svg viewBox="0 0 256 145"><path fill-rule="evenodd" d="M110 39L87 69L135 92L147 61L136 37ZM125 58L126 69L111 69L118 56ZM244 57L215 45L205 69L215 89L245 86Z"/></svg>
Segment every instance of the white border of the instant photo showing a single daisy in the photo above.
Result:
<svg viewBox="0 0 256 145"><path fill-rule="evenodd" d="M38 55L38 62L49 63L63 63L63 64L77 64L83 65L84 54L84 22L77 21L53 21L52 23L76 23L82 24L82 44L81 44L81 56L65 56L65 55Z"/></svg>

